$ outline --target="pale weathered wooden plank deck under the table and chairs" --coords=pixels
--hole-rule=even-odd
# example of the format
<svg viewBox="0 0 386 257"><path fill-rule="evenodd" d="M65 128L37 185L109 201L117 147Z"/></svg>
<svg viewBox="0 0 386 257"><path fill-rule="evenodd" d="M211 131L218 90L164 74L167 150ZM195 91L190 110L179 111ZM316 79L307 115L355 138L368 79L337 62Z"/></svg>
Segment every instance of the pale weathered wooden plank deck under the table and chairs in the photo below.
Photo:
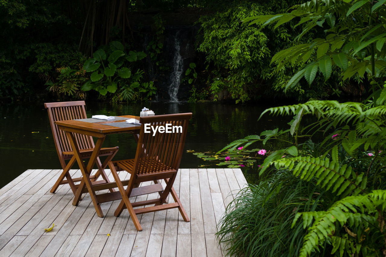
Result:
<svg viewBox="0 0 386 257"><path fill-rule="evenodd" d="M75 207L68 185L50 193L60 172L27 170L0 189L0 256L225 256L216 224L246 184L240 169L180 169L174 188L191 222L178 209L146 213L137 232L127 210L113 215L118 201L102 203L100 218L88 194Z"/></svg>

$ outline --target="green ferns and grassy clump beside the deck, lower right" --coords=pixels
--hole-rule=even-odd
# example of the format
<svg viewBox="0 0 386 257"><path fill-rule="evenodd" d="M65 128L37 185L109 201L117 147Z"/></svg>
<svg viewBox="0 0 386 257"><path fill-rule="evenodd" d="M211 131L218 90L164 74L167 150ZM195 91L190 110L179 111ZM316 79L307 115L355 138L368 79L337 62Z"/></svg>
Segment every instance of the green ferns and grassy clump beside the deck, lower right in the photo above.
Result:
<svg viewBox="0 0 386 257"><path fill-rule="evenodd" d="M322 256L383 255L386 249L386 87L380 95L378 104L372 101L365 104L309 101L265 111L274 115L294 115L291 128L286 131L294 136L293 145L271 151L258 169L264 178L259 183L262 188L249 186L227 207L218 236L221 242L228 244L229 253L278 256L280 252L279 256L319 256L324 251ZM318 120L301 126L306 114L316 116ZM324 131L322 135L318 135L320 130ZM239 145L244 145L245 149L252 143L267 142L277 135L278 130L265 131L259 139L256 136L239 139L225 149ZM304 136L323 140L318 144L311 140L304 143L295 140L295 137L300 140ZM291 186L287 182L289 176L295 180ZM311 188L309 194L307 190ZM290 193L303 200L281 197ZM272 197L276 200L275 205L267 209L266 204L271 204ZM251 202L256 204L251 206ZM282 208L285 210L286 206L292 207L286 212L285 217L289 215L291 220L287 223L282 221ZM251 209L252 214L235 219L245 213L245 209ZM265 219L272 220L269 228L265 222L255 222L262 214ZM253 227L253 234L247 239L246 234L239 231L244 226ZM266 238L266 231L275 232L279 238L289 236L292 242L301 239L302 244L298 248L286 244L273 246L277 239ZM255 244L256 238L265 244ZM276 250L267 253L267 245Z"/></svg>

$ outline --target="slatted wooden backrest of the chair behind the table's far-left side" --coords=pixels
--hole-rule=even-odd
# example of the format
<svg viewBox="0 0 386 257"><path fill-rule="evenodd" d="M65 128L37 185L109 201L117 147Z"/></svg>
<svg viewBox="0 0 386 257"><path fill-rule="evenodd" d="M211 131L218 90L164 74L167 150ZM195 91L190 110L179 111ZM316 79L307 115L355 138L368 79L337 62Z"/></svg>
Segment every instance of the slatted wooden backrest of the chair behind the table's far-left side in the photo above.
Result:
<svg viewBox="0 0 386 257"><path fill-rule="evenodd" d="M85 101L73 102L46 102L44 107L47 108L49 123L51 125L52 135L58 152L59 160L63 167L66 166L64 160L71 158L63 155L62 152L72 151L71 144L66 136L66 133L58 128L55 121L63 121L69 119L85 119L86 109ZM80 149L94 148L94 142L90 136L74 133L76 141Z"/></svg>

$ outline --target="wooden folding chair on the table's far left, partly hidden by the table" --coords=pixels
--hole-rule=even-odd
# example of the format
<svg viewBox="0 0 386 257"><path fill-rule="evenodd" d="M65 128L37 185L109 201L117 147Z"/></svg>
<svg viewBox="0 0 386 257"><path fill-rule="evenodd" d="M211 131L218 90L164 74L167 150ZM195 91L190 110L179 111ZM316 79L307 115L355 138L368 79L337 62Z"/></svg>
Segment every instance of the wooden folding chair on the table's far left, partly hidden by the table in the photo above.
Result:
<svg viewBox="0 0 386 257"><path fill-rule="evenodd" d="M78 187L78 185L75 185L74 183L81 181L82 178L71 178L69 170L76 162L76 158L74 156L73 149L71 148L71 144L69 143L69 140L66 136L66 133L64 131L61 131L54 122L70 119L87 118L85 110L85 101L46 102L44 104L44 107L47 108L48 111L49 123L51 125L56 151L58 152L59 161L63 168L62 174L59 176L55 185L52 186L50 192L54 193L56 189L58 189L59 185L69 184L71 190L75 195L76 188ZM76 138L76 141L80 146L81 158L90 158L93 148L95 147L94 141L91 136L74 133L74 137ZM118 149L118 146L101 149L97 158L98 171L97 173L95 173L95 175L90 176L91 181L97 180L97 178L102 175L103 180L98 181L98 183L110 182L107 178L104 169L106 168L108 161L112 160L114 155L117 153ZM101 163L99 156L107 156L103 164ZM69 160L67 164L66 160ZM110 191L113 192L114 190L110 189Z"/></svg>

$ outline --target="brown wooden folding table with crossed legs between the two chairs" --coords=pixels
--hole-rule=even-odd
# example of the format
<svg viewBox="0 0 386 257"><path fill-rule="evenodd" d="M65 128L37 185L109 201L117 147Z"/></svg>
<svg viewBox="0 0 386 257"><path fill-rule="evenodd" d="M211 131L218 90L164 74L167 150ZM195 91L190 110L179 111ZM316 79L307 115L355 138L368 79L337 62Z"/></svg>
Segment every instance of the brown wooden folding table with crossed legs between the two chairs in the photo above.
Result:
<svg viewBox="0 0 386 257"><path fill-rule="evenodd" d="M116 183L110 182L105 183L105 181L94 181L90 180L90 173L92 168L95 165L97 160L98 153L102 148L103 141L108 134L117 134L117 133L132 133L134 134L134 138L138 141L139 130L141 129L140 125L128 124L125 122L126 119L137 119L138 116L132 115L124 115L117 116L115 120L96 120L96 119L78 119L78 120L68 120L68 121L55 121L55 124L58 125L58 128L65 131L69 141L71 143L71 147L74 151L74 156L76 161L78 162L79 168L82 172L83 178L81 183L76 190L75 197L73 200L73 205L77 206L79 201L81 200L82 193L90 193L91 200L94 204L95 210L97 211L97 215L99 217L103 217L102 209L100 208L100 203L110 202L113 200L121 199L119 191L112 193L105 193L96 195L95 191L115 188ZM91 157L85 165L83 159L80 157L80 151L78 142L73 133L85 134L89 136L93 136L97 138L97 142L95 143L95 148L91 154Z"/></svg>

